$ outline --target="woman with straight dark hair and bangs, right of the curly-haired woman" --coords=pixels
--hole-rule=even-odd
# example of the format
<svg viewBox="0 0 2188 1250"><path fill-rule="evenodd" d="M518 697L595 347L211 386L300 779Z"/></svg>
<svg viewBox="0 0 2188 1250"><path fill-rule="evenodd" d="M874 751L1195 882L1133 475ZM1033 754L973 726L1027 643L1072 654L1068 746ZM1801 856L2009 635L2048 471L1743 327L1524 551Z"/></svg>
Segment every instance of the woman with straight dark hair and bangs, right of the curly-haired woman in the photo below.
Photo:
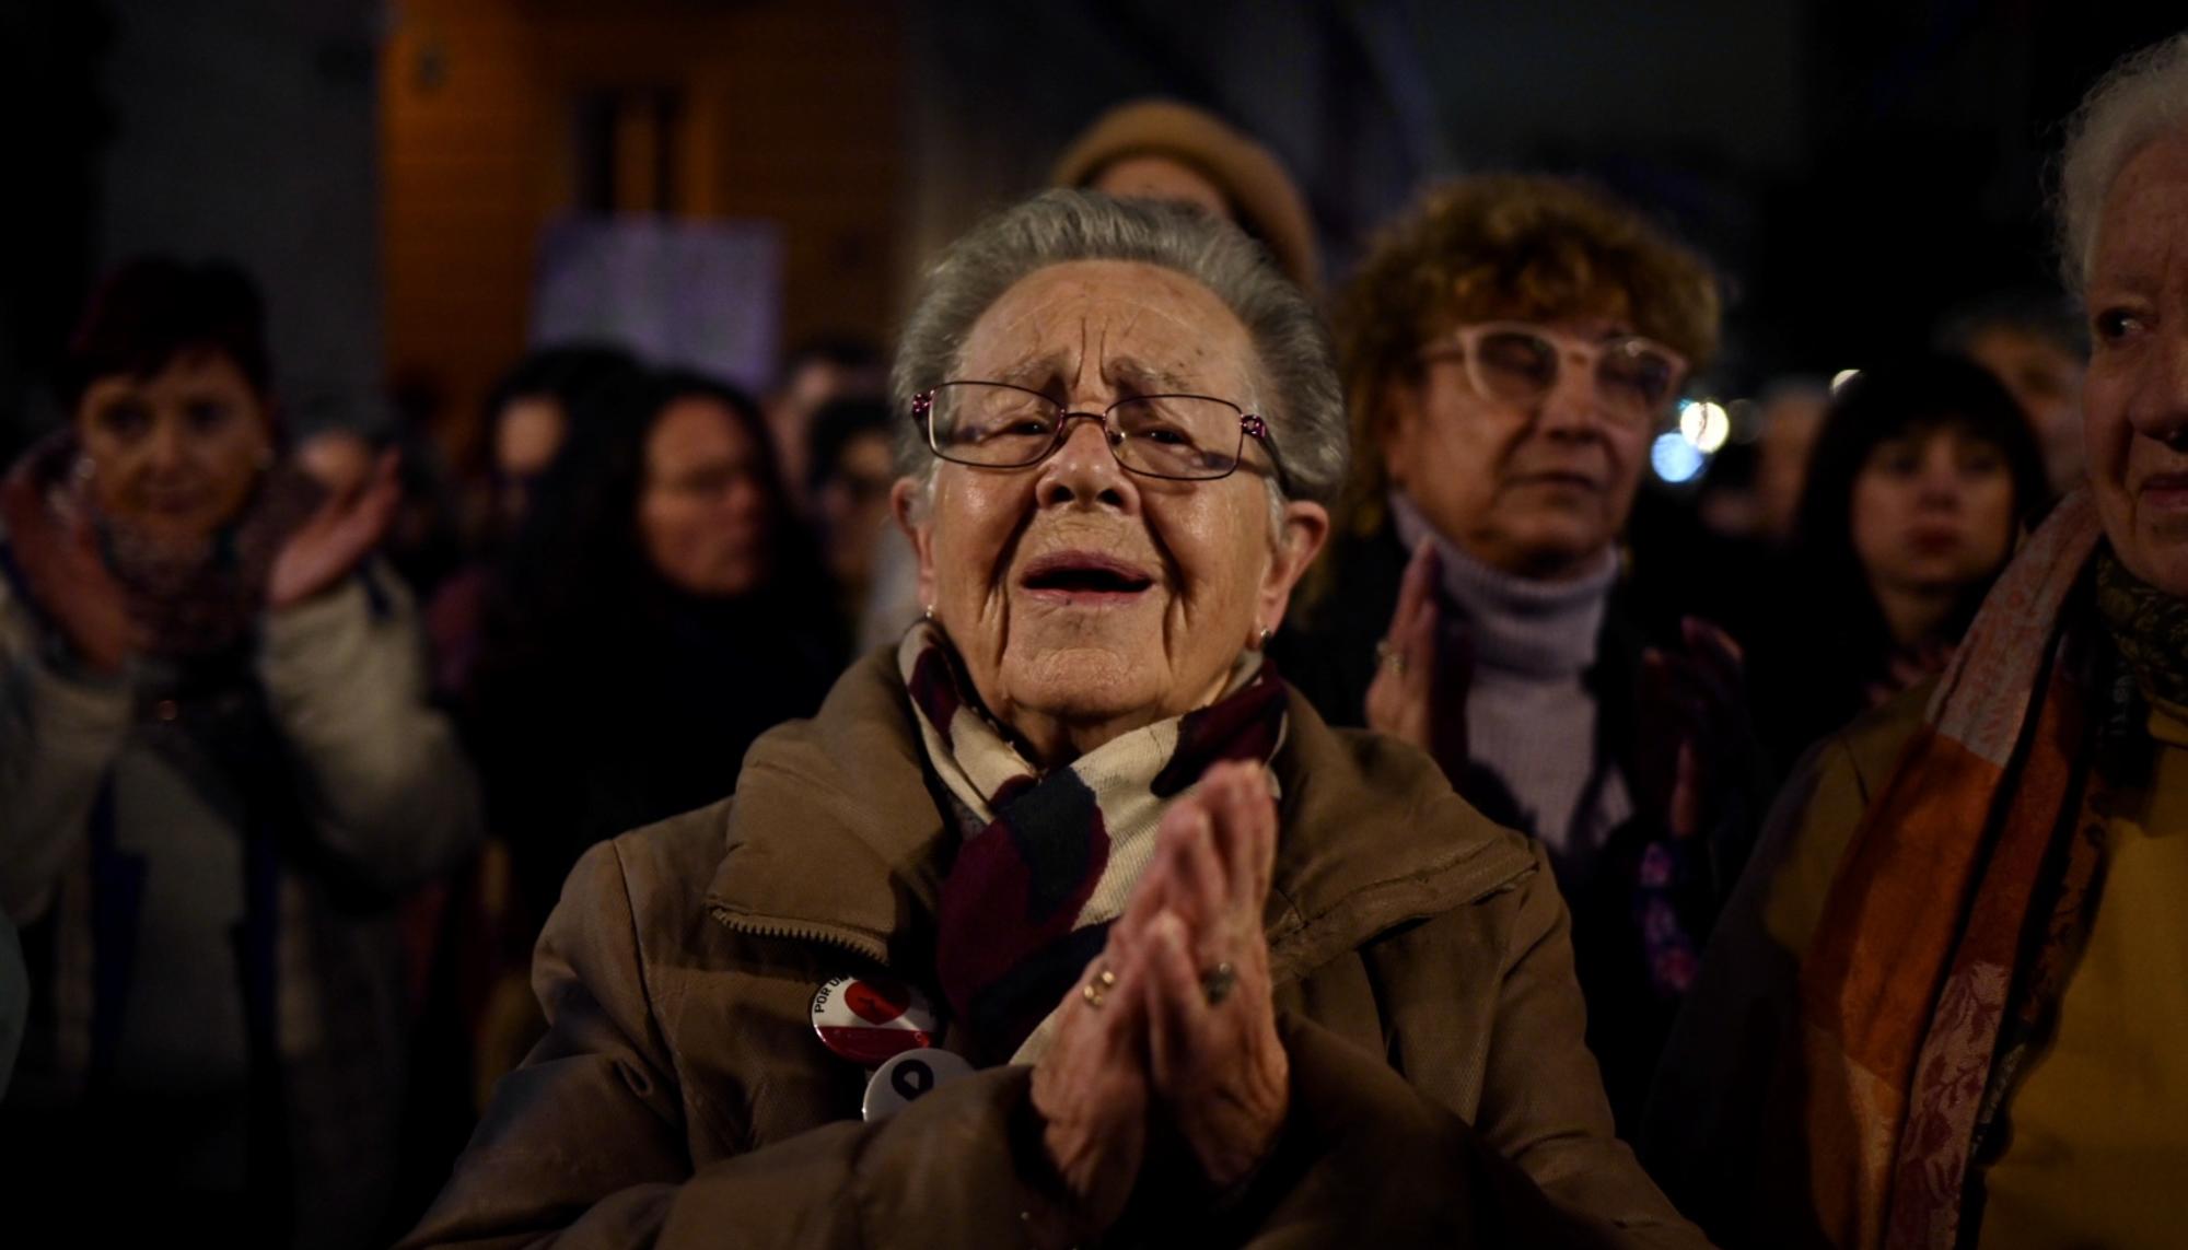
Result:
<svg viewBox="0 0 2188 1250"><path fill-rule="evenodd" d="M2028 417L1956 356L1910 356L1834 396L1794 522L1755 719L1779 767L1945 669L2050 492Z"/></svg>

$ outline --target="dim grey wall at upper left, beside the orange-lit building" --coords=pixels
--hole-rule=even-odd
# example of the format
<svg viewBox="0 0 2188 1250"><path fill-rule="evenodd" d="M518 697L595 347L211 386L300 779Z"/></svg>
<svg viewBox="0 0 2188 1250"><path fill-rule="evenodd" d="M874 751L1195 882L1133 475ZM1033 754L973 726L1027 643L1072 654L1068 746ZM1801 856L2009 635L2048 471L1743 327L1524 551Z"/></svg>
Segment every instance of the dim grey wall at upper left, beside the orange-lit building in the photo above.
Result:
<svg viewBox="0 0 2188 1250"><path fill-rule="evenodd" d="M225 256L267 297L291 424L381 396L372 0L118 0L98 96L98 267Z"/></svg>

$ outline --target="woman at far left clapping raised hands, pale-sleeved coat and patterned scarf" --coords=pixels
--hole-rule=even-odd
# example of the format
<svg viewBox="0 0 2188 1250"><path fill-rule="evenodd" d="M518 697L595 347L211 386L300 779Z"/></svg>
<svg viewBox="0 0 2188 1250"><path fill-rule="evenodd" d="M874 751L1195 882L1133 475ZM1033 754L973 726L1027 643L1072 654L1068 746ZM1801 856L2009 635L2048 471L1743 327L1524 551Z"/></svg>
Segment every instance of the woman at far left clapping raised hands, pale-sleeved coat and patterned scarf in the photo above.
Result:
<svg viewBox="0 0 2188 1250"><path fill-rule="evenodd" d="M468 850L477 798L370 559L396 465L322 498L267 374L238 271L131 262L70 345L72 424L0 487L20 1228L368 1246L387 1219L394 900ZM85 1204L90 1176L129 1200Z"/></svg>

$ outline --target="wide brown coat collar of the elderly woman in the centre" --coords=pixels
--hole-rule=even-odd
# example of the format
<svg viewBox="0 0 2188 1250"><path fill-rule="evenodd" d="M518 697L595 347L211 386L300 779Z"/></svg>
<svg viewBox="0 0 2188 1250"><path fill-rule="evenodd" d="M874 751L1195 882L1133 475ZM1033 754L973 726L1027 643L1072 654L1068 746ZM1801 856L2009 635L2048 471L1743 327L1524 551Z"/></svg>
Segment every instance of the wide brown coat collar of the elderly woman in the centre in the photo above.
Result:
<svg viewBox="0 0 2188 1250"><path fill-rule="evenodd" d="M707 889L718 920L906 970L930 962L956 833L910 717L884 649L853 664L814 719L753 745ZM1282 835L1265 922L1280 983L1536 868L1527 841L1451 793L1429 756L1330 730L1297 693L1276 771Z"/></svg>

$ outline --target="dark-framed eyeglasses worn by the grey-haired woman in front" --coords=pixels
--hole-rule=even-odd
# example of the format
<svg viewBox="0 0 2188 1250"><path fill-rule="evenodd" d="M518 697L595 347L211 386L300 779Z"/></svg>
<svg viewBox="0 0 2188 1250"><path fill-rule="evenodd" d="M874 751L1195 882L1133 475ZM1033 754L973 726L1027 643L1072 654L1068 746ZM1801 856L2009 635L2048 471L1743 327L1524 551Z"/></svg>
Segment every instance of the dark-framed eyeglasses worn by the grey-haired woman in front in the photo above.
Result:
<svg viewBox="0 0 2188 1250"><path fill-rule="evenodd" d="M1133 396L1101 413L1074 413L1009 382L943 382L912 396L912 420L928 431L934 455L974 468L1037 465L1063 446L1074 420L1087 420L1101 422L1103 441L1125 472L1214 481L1238 472L1245 441L1258 439L1278 483L1284 476L1269 422L1212 396Z"/></svg>

